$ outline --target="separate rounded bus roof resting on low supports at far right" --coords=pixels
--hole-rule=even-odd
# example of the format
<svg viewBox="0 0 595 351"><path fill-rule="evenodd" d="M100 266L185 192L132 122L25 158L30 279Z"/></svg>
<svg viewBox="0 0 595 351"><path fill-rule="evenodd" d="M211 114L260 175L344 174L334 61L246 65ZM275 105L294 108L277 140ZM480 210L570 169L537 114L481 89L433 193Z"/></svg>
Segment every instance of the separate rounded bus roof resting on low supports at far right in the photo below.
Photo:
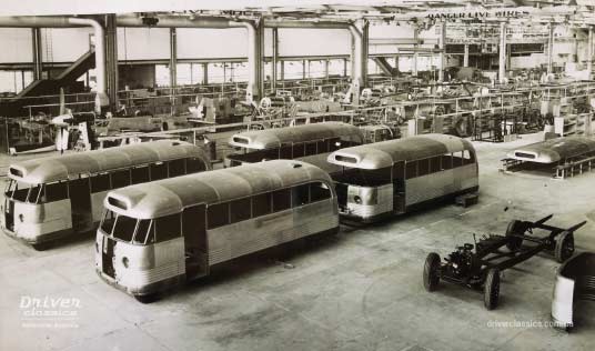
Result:
<svg viewBox="0 0 595 351"><path fill-rule="evenodd" d="M520 161L553 163L595 152L595 140L587 137L562 137L514 149L506 157Z"/></svg>

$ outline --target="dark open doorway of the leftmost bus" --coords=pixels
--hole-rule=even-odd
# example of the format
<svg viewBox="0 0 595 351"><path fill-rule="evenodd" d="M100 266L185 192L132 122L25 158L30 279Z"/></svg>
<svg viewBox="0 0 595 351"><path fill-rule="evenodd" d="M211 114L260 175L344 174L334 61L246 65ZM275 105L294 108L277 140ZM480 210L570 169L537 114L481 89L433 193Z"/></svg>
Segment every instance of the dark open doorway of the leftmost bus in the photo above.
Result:
<svg viewBox="0 0 595 351"><path fill-rule="evenodd" d="M72 229L74 232L91 230L93 213L91 211L91 189L89 178L74 179L68 182Z"/></svg>

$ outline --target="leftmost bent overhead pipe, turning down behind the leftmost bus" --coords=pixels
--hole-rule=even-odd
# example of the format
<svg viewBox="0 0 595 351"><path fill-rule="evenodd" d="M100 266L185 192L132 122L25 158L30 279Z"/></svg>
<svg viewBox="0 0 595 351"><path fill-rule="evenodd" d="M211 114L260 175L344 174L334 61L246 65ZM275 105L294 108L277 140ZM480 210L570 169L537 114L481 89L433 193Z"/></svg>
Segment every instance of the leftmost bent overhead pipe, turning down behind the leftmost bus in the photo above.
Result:
<svg viewBox="0 0 595 351"><path fill-rule="evenodd" d="M8 28L73 28L91 27L95 37L97 96L95 110L110 104L107 93L105 33L103 27L93 19L53 16L0 17L0 27Z"/></svg>

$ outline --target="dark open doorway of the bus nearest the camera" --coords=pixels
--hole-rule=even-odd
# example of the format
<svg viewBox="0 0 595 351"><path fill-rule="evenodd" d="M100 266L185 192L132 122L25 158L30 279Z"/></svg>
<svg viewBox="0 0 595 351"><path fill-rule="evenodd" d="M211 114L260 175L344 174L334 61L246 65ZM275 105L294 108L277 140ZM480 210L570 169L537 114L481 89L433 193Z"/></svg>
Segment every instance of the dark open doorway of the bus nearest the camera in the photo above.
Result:
<svg viewBox="0 0 595 351"><path fill-rule="evenodd" d="M209 274L205 213L206 207L204 204L185 208L182 212L182 234L184 235L185 273L188 279Z"/></svg>

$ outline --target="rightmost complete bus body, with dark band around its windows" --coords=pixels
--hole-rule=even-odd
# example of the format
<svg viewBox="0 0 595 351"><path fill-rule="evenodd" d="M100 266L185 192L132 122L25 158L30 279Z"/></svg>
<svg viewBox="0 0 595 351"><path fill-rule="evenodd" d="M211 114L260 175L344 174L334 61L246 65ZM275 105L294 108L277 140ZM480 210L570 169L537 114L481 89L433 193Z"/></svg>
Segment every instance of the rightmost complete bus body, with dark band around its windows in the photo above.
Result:
<svg viewBox="0 0 595 351"><path fill-rule="evenodd" d="M478 190L470 141L424 134L345 148L329 156L342 218L374 222L445 198Z"/></svg>

